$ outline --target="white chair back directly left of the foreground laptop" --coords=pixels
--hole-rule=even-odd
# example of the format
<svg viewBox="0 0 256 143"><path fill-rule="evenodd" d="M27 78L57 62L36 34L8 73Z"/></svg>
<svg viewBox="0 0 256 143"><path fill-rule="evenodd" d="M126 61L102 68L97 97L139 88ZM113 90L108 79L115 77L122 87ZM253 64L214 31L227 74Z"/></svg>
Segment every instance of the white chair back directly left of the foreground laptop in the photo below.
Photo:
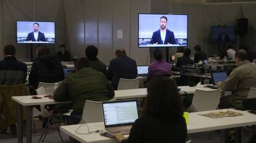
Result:
<svg viewBox="0 0 256 143"><path fill-rule="evenodd" d="M115 99L111 99L112 101ZM83 106L83 115L79 124L96 123L103 121L102 102L86 100Z"/></svg>

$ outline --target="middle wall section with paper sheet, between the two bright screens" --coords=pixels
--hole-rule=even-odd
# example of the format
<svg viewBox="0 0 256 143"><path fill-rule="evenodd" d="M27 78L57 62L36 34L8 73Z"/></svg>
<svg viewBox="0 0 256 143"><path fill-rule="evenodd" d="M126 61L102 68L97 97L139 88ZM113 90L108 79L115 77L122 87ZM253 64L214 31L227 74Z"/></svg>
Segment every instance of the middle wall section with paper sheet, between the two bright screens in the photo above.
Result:
<svg viewBox="0 0 256 143"><path fill-rule="evenodd" d="M85 47L95 45L98 58L108 65L116 49L122 48L139 65L145 64L148 49L137 48L137 12L148 12L148 6L148 0L64 0L72 55L84 57ZM122 30L123 38L117 39L117 30Z"/></svg>

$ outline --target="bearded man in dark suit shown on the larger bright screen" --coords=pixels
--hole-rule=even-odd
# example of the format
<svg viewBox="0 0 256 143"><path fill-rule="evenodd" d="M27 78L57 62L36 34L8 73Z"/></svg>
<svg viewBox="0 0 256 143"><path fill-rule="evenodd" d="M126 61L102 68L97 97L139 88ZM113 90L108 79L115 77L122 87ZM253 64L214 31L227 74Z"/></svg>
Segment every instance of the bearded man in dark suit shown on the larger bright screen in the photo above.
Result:
<svg viewBox="0 0 256 143"><path fill-rule="evenodd" d="M160 29L153 33L150 44L176 44L173 31L166 28L167 22L166 16L160 17Z"/></svg>

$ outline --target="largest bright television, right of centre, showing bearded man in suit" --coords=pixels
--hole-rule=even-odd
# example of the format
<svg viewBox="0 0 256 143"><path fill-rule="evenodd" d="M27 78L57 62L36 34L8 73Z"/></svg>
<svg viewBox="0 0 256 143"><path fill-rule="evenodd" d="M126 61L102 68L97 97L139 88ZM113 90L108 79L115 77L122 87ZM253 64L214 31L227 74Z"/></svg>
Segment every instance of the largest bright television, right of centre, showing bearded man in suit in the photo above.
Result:
<svg viewBox="0 0 256 143"><path fill-rule="evenodd" d="M139 47L187 46L186 14L139 14Z"/></svg>

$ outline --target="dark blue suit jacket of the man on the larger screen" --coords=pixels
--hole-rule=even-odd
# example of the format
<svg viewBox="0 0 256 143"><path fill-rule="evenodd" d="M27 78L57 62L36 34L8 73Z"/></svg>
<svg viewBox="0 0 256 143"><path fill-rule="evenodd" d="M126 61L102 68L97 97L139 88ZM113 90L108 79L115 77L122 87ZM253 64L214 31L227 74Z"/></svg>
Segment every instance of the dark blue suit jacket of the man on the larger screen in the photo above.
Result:
<svg viewBox="0 0 256 143"><path fill-rule="evenodd" d="M165 36L165 40L164 43L161 40L161 33L160 33L160 29L155 31L152 35L150 44L155 44L157 42L157 44L176 44L176 41L174 39L174 33L171 30L166 29L166 36Z"/></svg>

